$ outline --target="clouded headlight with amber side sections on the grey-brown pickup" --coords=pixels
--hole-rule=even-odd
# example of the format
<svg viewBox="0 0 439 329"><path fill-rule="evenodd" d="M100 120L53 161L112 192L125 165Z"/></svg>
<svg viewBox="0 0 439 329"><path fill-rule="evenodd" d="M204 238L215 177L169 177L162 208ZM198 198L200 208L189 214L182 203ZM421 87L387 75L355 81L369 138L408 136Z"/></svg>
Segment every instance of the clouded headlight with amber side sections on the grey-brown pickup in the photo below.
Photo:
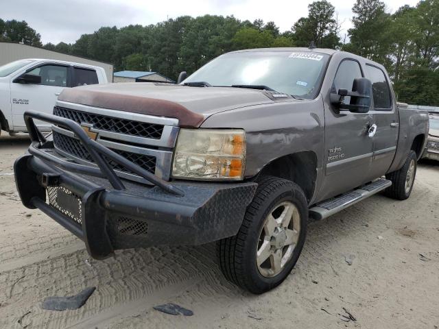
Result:
<svg viewBox="0 0 439 329"><path fill-rule="evenodd" d="M245 162L244 130L180 129L172 177L242 180Z"/></svg>

